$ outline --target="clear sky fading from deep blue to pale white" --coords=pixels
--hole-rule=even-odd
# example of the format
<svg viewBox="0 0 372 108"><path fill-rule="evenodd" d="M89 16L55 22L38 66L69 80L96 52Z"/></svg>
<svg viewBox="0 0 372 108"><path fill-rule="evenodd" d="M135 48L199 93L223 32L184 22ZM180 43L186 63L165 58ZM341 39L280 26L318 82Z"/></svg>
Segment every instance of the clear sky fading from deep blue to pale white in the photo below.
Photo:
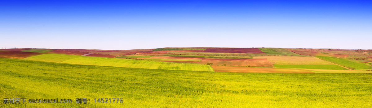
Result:
<svg viewBox="0 0 372 108"><path fill-rule="evenodd" d="M0 48L372 49L371 0L1 0Z"/></svg>

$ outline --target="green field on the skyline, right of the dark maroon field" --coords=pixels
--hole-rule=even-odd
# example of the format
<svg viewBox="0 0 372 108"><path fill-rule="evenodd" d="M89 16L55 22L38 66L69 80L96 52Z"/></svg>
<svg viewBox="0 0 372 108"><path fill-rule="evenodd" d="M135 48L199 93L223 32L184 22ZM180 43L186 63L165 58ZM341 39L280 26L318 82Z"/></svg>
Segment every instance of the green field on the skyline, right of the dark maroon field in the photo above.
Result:
<svg viewBox="0 0 372 108"><path fill-rule="evenodd" d="M287 55L287 56L300 56L307 57L306 55L300 55L293 53L292 51L286 50L284 48L259 48L263 53L270 55Z"/></svg>

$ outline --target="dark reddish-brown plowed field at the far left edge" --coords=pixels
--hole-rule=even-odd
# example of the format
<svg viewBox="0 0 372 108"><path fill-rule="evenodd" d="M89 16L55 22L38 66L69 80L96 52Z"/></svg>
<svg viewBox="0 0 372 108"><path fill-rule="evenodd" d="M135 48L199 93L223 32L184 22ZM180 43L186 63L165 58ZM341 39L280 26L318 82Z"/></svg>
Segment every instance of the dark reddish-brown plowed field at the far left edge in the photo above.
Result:
<svg viewBox="0 0 372 108"><path fill-rule="evenodd" d="M31 57L31 56L40 55L40 54L43 54L43 53L22 52L22 51L0 51L1 58L23 59L26 57Z"/></svg>

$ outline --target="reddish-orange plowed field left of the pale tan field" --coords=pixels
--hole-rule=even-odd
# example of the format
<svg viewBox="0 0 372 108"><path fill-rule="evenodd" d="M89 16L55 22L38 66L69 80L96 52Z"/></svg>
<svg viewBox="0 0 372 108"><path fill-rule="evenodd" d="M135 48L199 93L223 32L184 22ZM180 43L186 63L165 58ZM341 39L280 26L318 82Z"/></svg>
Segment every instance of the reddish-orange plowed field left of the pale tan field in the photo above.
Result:
<svg viewBox="0 0 372 108"><path fill-rule="evenodd" d="M204 58L198 64L213 63L214 65L226 64L228 66L256 66L256 67L273 67L272 63L266 58Z"/></svg>

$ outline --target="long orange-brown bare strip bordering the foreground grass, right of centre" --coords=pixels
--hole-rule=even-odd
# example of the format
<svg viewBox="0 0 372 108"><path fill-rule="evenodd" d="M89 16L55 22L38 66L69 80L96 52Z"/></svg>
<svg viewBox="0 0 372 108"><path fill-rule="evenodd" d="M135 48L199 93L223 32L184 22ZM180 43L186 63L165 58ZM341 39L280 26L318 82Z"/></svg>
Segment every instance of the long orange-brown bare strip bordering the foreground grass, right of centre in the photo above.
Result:
<svg viewBox="0 0 372 108"><path fill-rule="evenodd" d="M314 73L301 69L286 68L251 68L251 67L232 67L211 65L216 72L250 72L250 73Z"/></svg>

